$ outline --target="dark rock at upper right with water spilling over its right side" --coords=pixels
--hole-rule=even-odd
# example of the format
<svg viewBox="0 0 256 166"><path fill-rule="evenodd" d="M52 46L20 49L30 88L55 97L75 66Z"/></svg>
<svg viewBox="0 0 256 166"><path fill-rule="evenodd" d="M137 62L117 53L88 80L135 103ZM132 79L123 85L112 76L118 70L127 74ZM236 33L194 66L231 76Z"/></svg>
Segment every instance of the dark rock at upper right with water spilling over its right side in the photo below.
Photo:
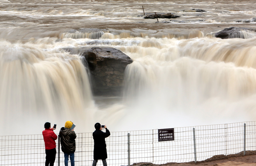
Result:
<svg viewBox="0 0 256 166"><path fill-rule="evenodd" d="M239 27L230 27L230 28L225 28L217 33L215 33L216 38L221 38L221 39L228 39L228 38L246 38L242 32L242 30L247 30L247 31L254 31L256 29L253 28L239 28Z"/></svg>

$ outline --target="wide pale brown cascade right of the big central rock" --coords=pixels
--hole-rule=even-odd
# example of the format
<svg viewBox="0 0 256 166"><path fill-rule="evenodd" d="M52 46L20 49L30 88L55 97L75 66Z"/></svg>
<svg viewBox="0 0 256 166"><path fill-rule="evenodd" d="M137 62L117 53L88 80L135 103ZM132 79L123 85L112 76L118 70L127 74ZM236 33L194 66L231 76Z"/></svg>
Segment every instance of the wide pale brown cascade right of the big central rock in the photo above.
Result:
<svg viewBox="0 0 256 166"><path fill-rule="evenodd" d="M142 39L136 46L119 46L134 57L125 71L125 119L151 127L175 126L182 119L184 124L253 120L254 40Z"/></svg>

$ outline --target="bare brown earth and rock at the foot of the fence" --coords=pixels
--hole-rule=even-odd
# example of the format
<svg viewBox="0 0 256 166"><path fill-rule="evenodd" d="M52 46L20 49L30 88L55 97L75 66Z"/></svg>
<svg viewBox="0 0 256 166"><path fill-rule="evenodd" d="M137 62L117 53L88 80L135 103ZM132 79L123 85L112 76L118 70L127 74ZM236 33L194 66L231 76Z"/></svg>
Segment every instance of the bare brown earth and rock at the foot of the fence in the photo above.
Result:
<svg viewBox="0 0 256 166"><path fill-rule="evenodd" d="M243 152L232 155L216 155L204 161L198 161L197 163L166 163L166 164L152 164L152 163L134 163L133 166L256 166L256 151L246 151L246 155Z"/></svg>

